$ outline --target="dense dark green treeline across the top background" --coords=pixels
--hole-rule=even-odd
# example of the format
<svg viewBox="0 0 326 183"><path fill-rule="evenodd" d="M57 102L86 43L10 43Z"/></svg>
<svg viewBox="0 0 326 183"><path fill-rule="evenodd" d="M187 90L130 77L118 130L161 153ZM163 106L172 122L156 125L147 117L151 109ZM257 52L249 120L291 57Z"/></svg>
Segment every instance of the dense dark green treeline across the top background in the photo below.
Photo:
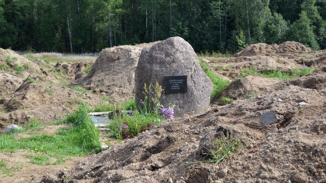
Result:
<svg viewBox="0 0 326 183"><path fill-rule="evenodd" d="M99 52L181 36L197 52L326 47L326 0L0 0L0 47Z"/></svg>

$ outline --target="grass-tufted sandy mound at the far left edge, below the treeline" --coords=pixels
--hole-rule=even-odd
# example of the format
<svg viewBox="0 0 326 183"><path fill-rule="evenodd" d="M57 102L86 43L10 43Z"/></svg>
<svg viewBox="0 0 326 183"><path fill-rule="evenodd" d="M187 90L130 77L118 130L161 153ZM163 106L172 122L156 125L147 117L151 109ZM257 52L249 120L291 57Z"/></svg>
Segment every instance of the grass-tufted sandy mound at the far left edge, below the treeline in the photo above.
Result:
<svg viewBox="0 0 326 183"><path fill-rule="evenodd" d="M0 48L0 70L13 73L22 77L27 77L30 74L38 74L40 72L39 67L15 53L12 50L5 50Z"/></svg>

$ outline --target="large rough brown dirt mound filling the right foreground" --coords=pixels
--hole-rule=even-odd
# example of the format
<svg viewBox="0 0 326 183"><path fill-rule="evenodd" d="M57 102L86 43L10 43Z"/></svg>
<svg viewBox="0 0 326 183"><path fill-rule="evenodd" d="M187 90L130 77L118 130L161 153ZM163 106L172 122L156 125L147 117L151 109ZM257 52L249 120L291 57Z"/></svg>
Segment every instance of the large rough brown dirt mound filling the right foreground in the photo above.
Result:
<svg viewBox="0 0 326 183"><path fill-rule="evenodd" d="M326 178L325 101L317 90L292 85L236 100L190 119L166 121L42 181L318 182ZM278 124L261 124L267 111L278 114ZM219 164L187 163L207 160L203 149L219 134L239 135L243 150Z"/></svg>

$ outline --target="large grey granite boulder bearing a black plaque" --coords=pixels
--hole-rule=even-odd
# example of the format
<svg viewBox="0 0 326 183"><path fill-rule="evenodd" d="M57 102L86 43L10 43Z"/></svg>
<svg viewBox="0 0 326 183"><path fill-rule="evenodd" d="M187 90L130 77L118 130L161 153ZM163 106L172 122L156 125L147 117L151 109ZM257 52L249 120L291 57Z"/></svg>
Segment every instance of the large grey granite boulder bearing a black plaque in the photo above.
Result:
<svg viewBox="0 0 326 183"><path fill-rule="evenodd" d="M187 93L162 94L159 102L167 106L176 105L175 115L187 112L204 112L210 104L213 84L200 67L197 55L183 38L173 37L161 41L141 51L135 71L136 105L144 100L144 84L155 85L156 81L164 88L165 76L186 75Z"/></svg>

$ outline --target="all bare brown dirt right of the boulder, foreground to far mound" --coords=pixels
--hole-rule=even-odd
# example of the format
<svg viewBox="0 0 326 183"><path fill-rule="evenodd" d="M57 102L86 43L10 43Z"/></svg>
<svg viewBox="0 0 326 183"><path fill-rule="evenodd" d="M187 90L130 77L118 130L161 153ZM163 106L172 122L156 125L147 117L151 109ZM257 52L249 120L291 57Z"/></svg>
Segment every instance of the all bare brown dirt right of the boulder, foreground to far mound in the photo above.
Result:
<svg viewBox="0 0 326 183"><path fill-rule="evenodd" d="M67 177L72 182L325 182L326 52L312 52L294 42L258 44L246 50L209 64L232 80L253 65L258 71L287 70L304 62L317 70L288 81L250 76L240 84L234 82L226 90L235 95L231 104L166 121L83 159L72 169L46 174L41 182ZM246 92L258 94L242 97ZM279 121L263 126L261 116L268 111L275 112ZM208 149L220 134L241 137L244 148L219 164L187 164L207 160Z"/></svg>

